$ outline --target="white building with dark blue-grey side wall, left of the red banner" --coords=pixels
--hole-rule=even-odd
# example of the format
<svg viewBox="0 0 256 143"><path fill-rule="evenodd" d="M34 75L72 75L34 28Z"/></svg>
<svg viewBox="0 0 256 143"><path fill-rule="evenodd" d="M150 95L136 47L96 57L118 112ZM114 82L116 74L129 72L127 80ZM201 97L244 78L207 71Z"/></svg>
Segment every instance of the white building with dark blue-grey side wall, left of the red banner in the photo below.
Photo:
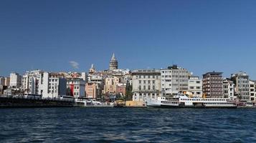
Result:
<svg viewBox="0 0 256 143"><path fill-rule="evenodd" d="M44 72L39 80L39 89L43 98L60 98L67 94L67 79L61 74Z"/></svg>

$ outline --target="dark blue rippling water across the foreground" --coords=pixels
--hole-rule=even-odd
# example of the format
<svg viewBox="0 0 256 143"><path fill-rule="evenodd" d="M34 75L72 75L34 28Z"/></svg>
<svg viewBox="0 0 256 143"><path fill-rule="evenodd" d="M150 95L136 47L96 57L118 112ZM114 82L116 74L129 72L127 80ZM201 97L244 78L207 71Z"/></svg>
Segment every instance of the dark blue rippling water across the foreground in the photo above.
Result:
<svg viewBox="0 0 256 143"><path fill-rule="evenodd" d="M0 142L256 142L256 109L0 109Z"/></svg>

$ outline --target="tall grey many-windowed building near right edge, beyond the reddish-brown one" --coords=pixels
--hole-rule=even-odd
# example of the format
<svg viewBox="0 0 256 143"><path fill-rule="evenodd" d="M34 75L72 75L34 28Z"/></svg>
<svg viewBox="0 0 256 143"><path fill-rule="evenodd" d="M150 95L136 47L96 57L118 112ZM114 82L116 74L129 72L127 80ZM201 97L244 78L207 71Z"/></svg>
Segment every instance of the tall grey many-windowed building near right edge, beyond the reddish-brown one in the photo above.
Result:
<svg viewBox="0 0 256 143"><path fill-rule="evenodd" d="M250 100L250 85L249 85L249 76L240 71L237 74L232 74L231 79L234 82L234 94L241 101Z"/></svg>

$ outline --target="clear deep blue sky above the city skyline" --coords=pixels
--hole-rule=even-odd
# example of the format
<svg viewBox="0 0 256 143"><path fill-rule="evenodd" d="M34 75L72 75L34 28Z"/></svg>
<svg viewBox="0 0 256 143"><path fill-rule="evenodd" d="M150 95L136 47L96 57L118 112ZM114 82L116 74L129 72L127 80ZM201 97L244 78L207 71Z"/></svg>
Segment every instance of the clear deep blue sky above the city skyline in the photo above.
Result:
<svg viewBox="0 0 256 143"><path fill-rule="evenodd" d="M256 1L0 1L0 76L108 69L113 53L120 69L178 64L256 79Z"/></svg>

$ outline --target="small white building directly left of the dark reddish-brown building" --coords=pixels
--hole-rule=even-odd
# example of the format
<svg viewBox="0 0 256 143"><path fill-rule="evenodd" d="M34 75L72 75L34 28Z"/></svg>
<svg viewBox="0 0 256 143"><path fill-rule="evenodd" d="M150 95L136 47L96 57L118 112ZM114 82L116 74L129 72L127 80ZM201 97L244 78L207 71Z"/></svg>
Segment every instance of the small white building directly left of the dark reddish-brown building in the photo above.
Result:
<svg viewBox="0 0 256 143"><path fill-rule="evenodd" d="M196 76L190 76L189 92L191 92L193 97L202 97L202 79Z"/></svg>

